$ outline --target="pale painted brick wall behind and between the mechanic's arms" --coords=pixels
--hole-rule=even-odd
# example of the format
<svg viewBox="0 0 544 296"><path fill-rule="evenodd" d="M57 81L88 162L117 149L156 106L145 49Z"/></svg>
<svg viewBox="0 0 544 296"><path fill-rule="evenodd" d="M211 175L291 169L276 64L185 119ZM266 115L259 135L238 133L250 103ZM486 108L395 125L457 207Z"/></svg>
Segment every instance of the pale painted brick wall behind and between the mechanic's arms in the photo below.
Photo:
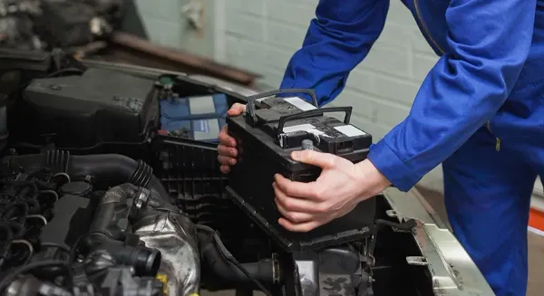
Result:
<svg viewBox="0 0 544 296"><path fill-rule="evenodd" d="M218 49L221 53L216 53L223 59L220 62L262 73L259 86L277 88L289 58L302 44L315 17L317 0L218 3L225 5L225 44ZM345 91L333 104L354 106L355 125L370 132L374 140L382 138L408 114L420 83L437 60L412 14L400 0L393 0L384 33L351 73ZM441 170L435 169L422 183L442 190L441 175Z"/></svg>

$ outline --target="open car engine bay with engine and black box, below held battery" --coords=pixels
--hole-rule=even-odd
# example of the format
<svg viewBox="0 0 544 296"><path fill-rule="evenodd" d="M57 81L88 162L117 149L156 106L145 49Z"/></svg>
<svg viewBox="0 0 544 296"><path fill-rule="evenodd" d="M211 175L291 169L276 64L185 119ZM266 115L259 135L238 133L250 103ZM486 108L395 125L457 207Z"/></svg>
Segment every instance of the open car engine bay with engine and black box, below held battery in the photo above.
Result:
<svg viewBox="0 0 544 296"><path fill-rule="evenodd" d="M415 221L398 223L383 196L372 235L288 251L228 196L213 139L194 137L219 119L164 118L165 101L243 95L171 73L78 69L5 101L0 293L434 295L428 269L406 260L422 256Z"/></svg>

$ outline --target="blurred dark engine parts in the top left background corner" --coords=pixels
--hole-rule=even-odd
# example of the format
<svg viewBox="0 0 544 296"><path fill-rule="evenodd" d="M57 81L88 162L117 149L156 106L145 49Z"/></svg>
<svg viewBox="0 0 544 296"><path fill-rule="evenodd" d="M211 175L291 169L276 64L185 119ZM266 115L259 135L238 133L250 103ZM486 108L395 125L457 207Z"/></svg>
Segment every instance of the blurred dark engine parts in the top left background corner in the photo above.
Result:
<svg viewBox="0 0 544 296"><path fill-rule="evenodd" d="M22 51L83 46L121 23L122 0L1 0L0 46Z"/></svg>

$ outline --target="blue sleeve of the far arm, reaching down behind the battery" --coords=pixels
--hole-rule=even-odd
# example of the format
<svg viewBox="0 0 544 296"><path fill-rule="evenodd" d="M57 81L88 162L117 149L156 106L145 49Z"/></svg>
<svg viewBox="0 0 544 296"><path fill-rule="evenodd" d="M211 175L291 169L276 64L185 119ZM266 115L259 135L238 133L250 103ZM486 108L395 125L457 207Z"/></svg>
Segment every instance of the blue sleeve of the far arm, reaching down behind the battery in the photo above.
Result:
<svg viewBox="0 0 544 296"><path fill-rule="evenodd" d="M280 88L314 89L320 105L334 100L382 33L388 8L389 0L320 0Z"/></svg>

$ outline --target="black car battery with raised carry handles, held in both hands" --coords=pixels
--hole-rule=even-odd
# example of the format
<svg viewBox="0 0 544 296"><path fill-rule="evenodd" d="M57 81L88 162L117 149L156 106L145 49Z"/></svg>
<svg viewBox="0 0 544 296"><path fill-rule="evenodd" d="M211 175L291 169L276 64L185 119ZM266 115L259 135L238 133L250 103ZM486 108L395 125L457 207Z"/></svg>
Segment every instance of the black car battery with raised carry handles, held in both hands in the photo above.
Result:
<svg viewBox="0 0 544 296"><path fill-rule="evenodd" d="M308 94L313 104L287 95L296 93ZM270 91L248 97L247 111L227 118L228 133L238 143L238 161L228 174L228 196L287 252L360 240L374 225L374 197L310 232L290 232L277 223L281 214L274 201L274 175L312 182L321 172L320 167L293 160L291 152L312 148L356 163L366 158L372 145L370 134L349 123L351 107L317 106L311 90ZM330 116L332 112L343 112L344 120Z"/></svg>

